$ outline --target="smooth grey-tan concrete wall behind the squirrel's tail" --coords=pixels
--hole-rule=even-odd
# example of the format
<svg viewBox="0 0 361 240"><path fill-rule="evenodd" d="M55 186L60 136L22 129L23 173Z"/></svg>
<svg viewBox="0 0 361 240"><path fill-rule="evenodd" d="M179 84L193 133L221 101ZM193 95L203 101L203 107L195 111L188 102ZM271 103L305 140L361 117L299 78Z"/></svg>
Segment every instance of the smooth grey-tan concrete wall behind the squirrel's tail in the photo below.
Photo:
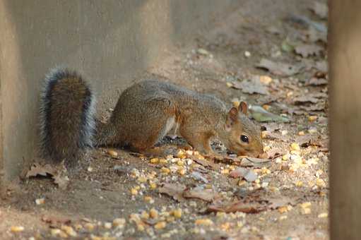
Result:
<svg viewBox="0 0 361 240"><path fill-rule="evenodd" d="M234 0L0 0L1 166L7 179L37 155L40 82L54 66L85 73L99 102L187 41ZM114 104L111 102L110 104Z"/></svg>

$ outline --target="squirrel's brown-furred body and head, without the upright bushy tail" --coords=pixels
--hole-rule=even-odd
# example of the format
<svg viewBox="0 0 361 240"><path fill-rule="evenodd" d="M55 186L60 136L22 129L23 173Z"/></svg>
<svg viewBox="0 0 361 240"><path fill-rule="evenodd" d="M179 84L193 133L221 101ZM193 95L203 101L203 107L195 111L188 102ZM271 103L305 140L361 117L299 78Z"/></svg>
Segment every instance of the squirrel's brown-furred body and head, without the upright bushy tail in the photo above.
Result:
<svg viewBox="0 0 361 240"><path fill-rule="evenodd" d="M170 128L177 128L180 136L203 153L213 153L210 140L218 137L238 155L258 156L263 152L260 130L245 114L244 102L239 109L228 111L216 97L147 80L122 92L110 121L98 131L98 143L129 145L147 153ZM240 140L242 134L249 143Z"/></svg>

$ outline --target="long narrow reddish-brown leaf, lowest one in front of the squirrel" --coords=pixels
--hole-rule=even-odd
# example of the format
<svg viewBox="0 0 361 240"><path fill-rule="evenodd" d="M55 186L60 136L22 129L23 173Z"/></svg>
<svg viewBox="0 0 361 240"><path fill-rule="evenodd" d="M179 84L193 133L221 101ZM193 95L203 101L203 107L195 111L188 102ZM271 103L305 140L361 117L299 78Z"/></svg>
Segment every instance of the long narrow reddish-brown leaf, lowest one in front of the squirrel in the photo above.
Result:
<svg viewBox="0 0 361 240"><path fill-rule="evenodd" d="M208 212L245 212L245 213L258 213L266 210L258 203L243 203L235 201L232 203L215 203L208 206Z"/></svg>

